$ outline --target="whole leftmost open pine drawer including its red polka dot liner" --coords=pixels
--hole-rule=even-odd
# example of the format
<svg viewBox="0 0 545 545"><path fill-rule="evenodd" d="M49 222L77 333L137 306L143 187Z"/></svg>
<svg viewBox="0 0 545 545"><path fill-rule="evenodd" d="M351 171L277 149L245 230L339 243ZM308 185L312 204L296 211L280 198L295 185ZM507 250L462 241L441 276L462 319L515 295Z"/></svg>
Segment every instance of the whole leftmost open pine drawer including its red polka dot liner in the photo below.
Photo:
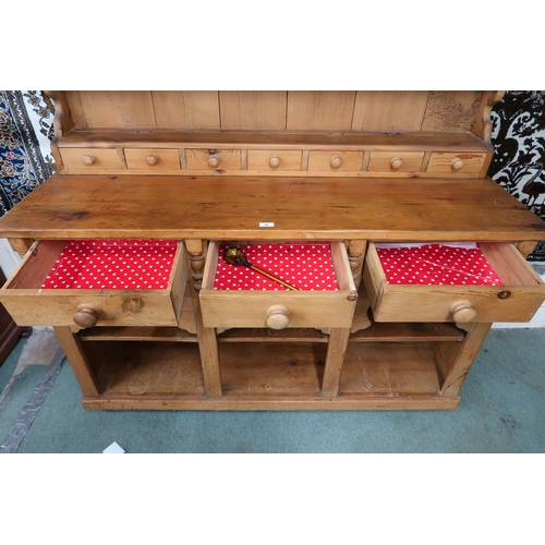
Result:
<svg viewBox="0 0 545 545"><path fill-rule="evenodd" d="M0 302L21 326L177 326L186 281L182 242L44 240Z"/></svg>

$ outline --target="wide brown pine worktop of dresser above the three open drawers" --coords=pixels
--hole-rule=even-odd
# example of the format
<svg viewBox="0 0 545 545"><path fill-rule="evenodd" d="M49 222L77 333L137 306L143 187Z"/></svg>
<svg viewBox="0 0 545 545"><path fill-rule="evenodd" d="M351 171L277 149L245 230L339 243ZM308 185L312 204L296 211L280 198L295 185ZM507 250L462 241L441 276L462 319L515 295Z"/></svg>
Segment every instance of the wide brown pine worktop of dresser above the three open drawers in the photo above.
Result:
<svg viewBox="0 0 545 545"><path fill-rule="evenodd" d="M0 218L0 235L12 239L535 241L544 233L545 222L489 179L53 174Z"/></svg>

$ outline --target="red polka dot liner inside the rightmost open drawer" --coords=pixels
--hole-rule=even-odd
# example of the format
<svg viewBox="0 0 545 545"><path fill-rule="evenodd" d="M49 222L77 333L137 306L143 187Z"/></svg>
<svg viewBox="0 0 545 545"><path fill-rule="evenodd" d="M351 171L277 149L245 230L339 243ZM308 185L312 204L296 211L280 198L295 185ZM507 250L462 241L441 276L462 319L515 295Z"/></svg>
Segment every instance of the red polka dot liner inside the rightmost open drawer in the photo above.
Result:
<svg viewBox="0 0 545 545"><path fill-rule="evenodd" d="M375 244L388 283L502 286L476 243Z"/></svg>

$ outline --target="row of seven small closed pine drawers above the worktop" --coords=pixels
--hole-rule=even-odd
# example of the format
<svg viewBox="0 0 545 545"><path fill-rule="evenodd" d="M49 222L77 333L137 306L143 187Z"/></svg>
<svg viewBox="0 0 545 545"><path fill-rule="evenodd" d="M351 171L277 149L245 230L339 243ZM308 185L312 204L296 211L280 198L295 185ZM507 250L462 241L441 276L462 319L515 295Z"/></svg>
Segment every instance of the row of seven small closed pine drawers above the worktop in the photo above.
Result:
<svg viewBox="0 0 545 545"><path fill-rule="evenodd" d="M424 165L424 152L343 152L298 149L140 149L124 148L120 157L110 148L61 148L69 169L145 170L270 170L270 171L370 171L475 173L483 168L485 153L433 152ZM424 168L423 168L424 167Z"/></svg>

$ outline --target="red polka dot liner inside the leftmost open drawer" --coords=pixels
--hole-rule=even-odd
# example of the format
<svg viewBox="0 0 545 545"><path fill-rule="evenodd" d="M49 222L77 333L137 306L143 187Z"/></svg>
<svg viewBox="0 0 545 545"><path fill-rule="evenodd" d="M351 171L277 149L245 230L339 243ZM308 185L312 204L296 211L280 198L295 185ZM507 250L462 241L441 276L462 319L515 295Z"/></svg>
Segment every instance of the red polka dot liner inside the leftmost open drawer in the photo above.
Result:
<svg viewBox="0 0 545 545"><path fill-rule="evenodd" d="M178 241L66 241L43 289L164 290Z"/></svg>

